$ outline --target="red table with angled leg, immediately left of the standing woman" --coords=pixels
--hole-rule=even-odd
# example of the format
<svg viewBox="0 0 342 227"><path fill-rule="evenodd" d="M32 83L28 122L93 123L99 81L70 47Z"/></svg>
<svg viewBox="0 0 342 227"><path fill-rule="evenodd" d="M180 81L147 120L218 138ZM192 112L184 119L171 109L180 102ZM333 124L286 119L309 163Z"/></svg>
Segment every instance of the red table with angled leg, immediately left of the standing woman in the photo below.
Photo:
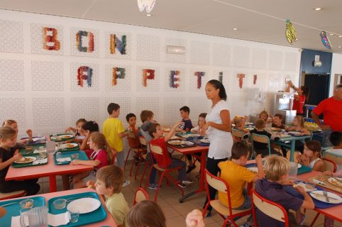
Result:
<svg viewBox="0 0 342 227"><path fill-rule="evenodd" d="M182 198L179 199L180 203L182 203L185 199L189 198L190 196L193 196L194 194L204 192L204 182L205 182L205 172L204 169L206 168L206 153L209 151L209 146L195 146L190 148L175 148L172 145L167 143L167 147L172 148L173 150L177 150L177 152L182 153L184 155L190 154L193 155L194 153L201 153L201 170L200 170L200 177L199 177L199 189L197 189L194 192L190 192Z"/></svg>

